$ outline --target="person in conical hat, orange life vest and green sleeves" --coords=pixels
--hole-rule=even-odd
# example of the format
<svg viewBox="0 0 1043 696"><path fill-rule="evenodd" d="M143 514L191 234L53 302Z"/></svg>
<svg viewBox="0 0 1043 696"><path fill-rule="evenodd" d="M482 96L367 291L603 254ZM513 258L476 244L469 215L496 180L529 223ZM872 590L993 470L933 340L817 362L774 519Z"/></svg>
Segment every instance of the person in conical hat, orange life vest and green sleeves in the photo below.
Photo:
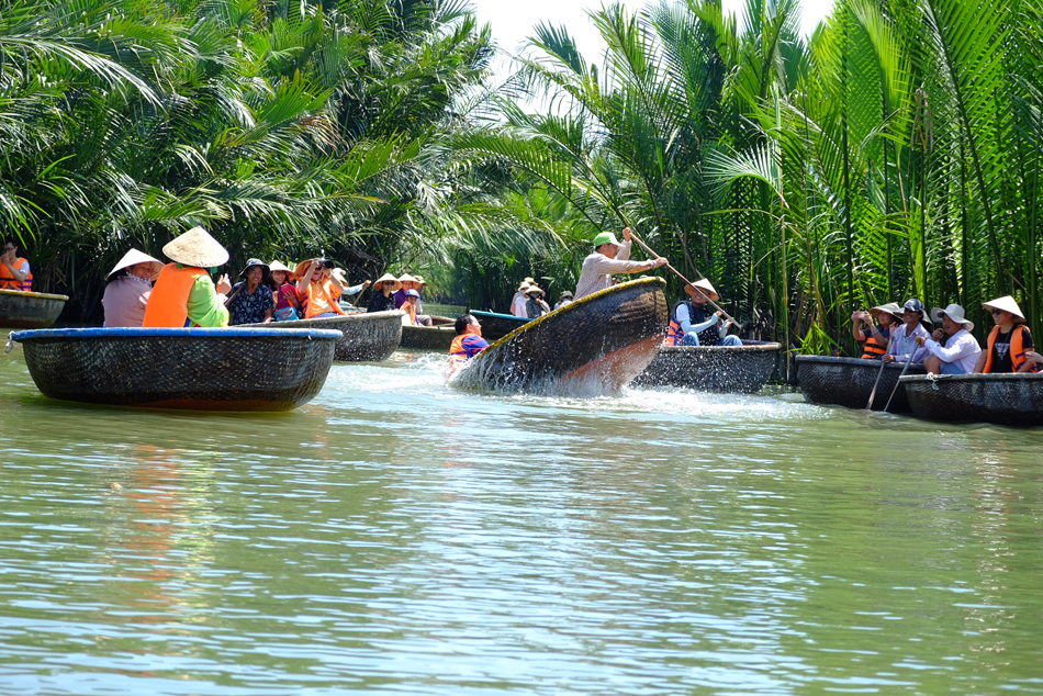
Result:
<svg viewBox="0 0 1043 696"><path fill-rule="evenodd" d="M232 284L225 274L215 287L208 270L228 262L225 248L202 227L192 227L167 244L162 252L172 262L159 271L142 326L227 326L224 304Z"/></svg>

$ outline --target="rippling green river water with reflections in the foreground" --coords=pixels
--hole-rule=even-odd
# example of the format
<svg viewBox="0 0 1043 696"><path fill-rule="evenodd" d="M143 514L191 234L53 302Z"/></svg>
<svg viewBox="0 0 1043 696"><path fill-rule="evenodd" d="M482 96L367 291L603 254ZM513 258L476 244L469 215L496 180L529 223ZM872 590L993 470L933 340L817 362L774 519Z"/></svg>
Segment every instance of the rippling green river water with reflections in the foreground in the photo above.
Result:
<svg viewBox="0 0 1043 696"><path fill-rule="evenodd" d="M0 356L0 694L1040 694L1041 430L798 395L48 401Z"/></svg>

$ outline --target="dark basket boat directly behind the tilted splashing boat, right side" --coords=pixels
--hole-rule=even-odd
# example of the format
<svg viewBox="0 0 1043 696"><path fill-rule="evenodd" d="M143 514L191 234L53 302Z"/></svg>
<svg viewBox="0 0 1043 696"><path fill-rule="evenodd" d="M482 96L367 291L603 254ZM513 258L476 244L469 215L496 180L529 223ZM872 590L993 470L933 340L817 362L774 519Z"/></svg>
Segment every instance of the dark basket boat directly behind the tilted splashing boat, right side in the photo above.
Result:
<svg viewBox="0 0 1043 696"><path fill-rule="evenodd" d="M633 385L751 394L772 377L781 350L782 344L764 340L744 340L742 346L663 346Z"/></svg>

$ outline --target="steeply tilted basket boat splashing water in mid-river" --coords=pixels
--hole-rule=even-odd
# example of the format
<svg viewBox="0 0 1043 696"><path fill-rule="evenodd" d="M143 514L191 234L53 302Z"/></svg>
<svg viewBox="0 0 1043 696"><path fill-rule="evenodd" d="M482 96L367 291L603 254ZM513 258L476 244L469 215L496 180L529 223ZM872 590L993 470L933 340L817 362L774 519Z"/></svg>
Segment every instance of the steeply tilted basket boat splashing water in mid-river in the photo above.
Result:
<svg viewBox="0 0 1043 696"><path fill-rule="evenodd" d="M532 319L472 358L455 383L515 392L617 392L662 346L670 314L665 285L659 278L620 283Z"/></svg>

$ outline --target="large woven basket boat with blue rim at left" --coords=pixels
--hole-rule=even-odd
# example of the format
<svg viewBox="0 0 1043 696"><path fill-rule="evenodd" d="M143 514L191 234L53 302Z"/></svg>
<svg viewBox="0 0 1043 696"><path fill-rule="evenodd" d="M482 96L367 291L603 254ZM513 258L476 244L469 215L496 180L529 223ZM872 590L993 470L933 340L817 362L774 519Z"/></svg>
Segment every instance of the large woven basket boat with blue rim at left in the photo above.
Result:
<svg viewBox="0 0 1043 696"><path fill-rule="evenodd" d="M195 411L289 411L322 390L337 332L59 328L14 332L51 398Z"/></svg>

